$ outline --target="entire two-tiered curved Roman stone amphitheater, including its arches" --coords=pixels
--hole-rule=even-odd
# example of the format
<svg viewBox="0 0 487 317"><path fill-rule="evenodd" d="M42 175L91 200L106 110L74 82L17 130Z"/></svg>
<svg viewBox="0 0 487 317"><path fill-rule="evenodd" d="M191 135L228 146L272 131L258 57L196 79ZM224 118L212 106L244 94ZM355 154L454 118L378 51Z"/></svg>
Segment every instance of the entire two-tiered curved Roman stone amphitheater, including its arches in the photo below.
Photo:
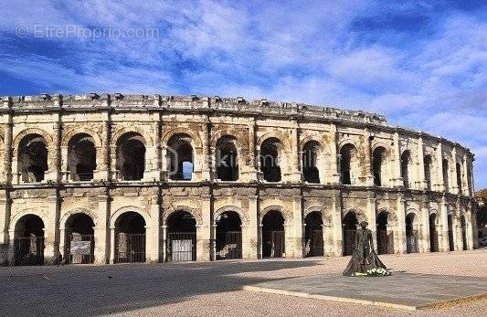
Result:
<svg viewBox="0 0 487 317"><path fill-rule="evenodd" d="M3 97L8 265L477 248L473 153L382 115L243 98Z"/></svg>

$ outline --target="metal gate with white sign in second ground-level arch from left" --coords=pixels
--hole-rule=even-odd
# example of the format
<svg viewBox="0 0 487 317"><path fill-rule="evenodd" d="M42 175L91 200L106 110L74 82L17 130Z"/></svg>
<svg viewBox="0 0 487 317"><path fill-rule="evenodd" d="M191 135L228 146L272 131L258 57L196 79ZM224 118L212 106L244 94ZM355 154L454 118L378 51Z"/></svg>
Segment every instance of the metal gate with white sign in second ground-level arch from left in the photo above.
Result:
<svg viewBox="0 0 487 317"><path fill-rule="evenodd" d="M65 242L65 262L66 264L89 264L95 260L95 236L71 234ZM71 248L75 247L75 248ZM82 248L79 249L76 248ZM89 249L86 249L89 248Z"/></svg>

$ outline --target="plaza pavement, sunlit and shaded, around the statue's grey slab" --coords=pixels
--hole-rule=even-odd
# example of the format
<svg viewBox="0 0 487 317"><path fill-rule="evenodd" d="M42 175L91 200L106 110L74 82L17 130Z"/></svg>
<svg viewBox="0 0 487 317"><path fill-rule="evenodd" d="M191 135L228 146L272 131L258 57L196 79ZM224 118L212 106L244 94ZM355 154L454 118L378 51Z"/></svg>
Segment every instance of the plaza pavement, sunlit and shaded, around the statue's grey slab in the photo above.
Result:
<svg viewBox="0 0 487 317"><path fill-rule="evenodd" d="M241 291L265 280L340 274L347 258L1 268L0 314L339 316L487 314L487 301L418 312ZM396 271L487 277L487 250L385 255ZM454 279L454 277L452 277Z"/></svg>

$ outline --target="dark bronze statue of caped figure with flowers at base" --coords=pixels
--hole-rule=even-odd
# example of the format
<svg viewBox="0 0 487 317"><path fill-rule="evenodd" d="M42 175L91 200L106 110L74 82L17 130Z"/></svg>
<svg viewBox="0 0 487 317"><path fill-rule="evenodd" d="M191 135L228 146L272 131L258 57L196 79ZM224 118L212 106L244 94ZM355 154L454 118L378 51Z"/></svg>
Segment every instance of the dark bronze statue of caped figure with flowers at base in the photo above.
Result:
<svg viewBox="0 0 487 317"><path fill-rule="evenodd" d="M377 257L374 250L374 243L372 240L372 231L367 228L368 223L362 221L360 227L355 232L355 250L352 254L352 259L344 270L344 275L357 276L357 275L389 275L386 266ZM376 274L376 271L387 272L384 274Z"/></svg>

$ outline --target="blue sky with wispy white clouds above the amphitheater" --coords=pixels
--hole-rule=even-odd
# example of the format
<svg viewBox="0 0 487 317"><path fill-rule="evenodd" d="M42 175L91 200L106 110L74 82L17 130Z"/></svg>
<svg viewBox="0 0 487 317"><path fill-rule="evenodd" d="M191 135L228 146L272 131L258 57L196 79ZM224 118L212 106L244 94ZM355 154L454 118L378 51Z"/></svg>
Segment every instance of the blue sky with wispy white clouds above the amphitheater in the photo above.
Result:
<svg viewBox="0 0 487 317"><path fill-rule="evenodd" d="M244 96L458 141L487 187L485 1L0 3L0 94ZM57 32L57 33L56 33Z"/></svg>

